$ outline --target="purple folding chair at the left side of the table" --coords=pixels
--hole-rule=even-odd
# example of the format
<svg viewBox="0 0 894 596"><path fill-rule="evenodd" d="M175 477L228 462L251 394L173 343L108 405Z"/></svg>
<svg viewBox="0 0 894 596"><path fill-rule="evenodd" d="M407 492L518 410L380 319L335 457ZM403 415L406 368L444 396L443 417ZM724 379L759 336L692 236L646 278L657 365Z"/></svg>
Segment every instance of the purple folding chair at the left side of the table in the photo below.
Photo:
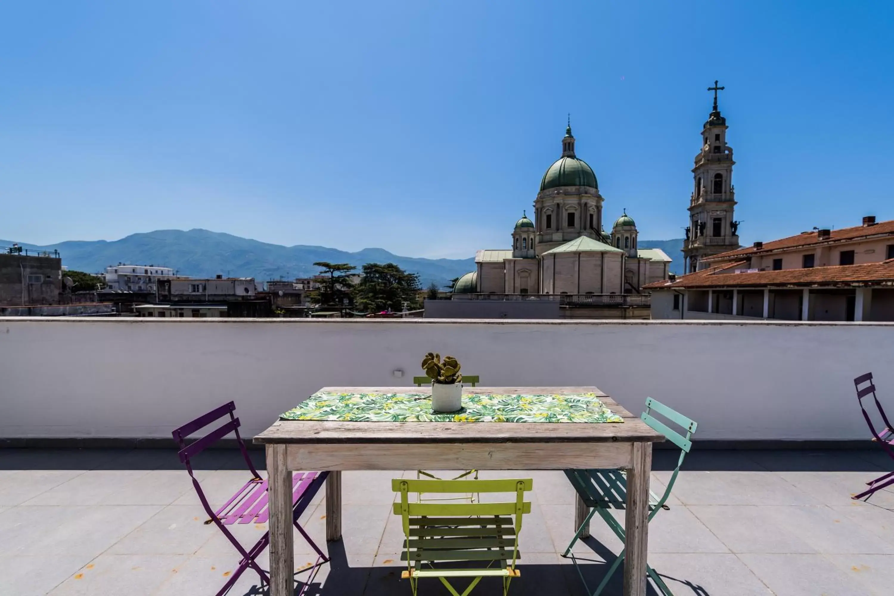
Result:
<svg viewBox="0 0 894 596"><path fill-rule="evenodd" d="M199 416L192 422L183 424L180 428L172 432L174 441L177 441L180 445L180 460L183 465L186 466L186 471L190 473L192 485L196 488L196 493L198 494L198 500L202 502L202 507L205 508L205 511L208 514L209 519L205 523L211 524L214 522L215 525L221 529L223 535L232 542L232 545L242 556L242 559L239 562L239 567L236 567L236 570L232 573L229 581L223 585L220 592L217 592L217 596L223 596L224 593L230 590L232 584L236 583L236 580L239 579L242 572L249 567L257 572L257 575L261 578L262 586L265 584L269 585L270 583L270 576L267 575L267 572L258 566L255 561L257 556L263 552L270 543L270 533L265 532L254 546L246 550L226 527L227 525L232 524L263 524L267 521L267 516L269 515L267 508L267 481L262 479L260 474L257 474L255 466L251 463L249 451L245 449L245 442L242 441L239 434L239 418L233 415L235 410L236 405L231 401L228 404L224 404L221 407L211 410L205 416ZM201 439L197 439L189 445L186 444L186 438L190 434L227 415L230 415L230 420L222 426L209 432ZM242 488L240 488L239 491L236 491L236 493L223 504L223 507L218 508L215 511L208 504L208 499L205 497L202 487L199 485L195 474L192 473L192 463L190 459L207 449L215 443L215 441L223 439L223 437L231 432L236 435L236 442L239 443L242 457L245 459L245 463L249 466L252 477L249 482L243 484ZM292 523L295 525L295 528L299 533L304 536L304 540L308 541L308 544L316 550L318 557L316 558L316 563L312 567L315 571L316 567L319 567L328 561L329 558L323 554L322 550L319 550L314 541L308 536L308 533L306 533L304 528L299 525L298 518L304 510L308 508L310 500L314 498L316 491L323 485L328 474L328 472L292 473ZM309 584L310 582L305 583L302 588L302 593L308 588Z"/></svg>

